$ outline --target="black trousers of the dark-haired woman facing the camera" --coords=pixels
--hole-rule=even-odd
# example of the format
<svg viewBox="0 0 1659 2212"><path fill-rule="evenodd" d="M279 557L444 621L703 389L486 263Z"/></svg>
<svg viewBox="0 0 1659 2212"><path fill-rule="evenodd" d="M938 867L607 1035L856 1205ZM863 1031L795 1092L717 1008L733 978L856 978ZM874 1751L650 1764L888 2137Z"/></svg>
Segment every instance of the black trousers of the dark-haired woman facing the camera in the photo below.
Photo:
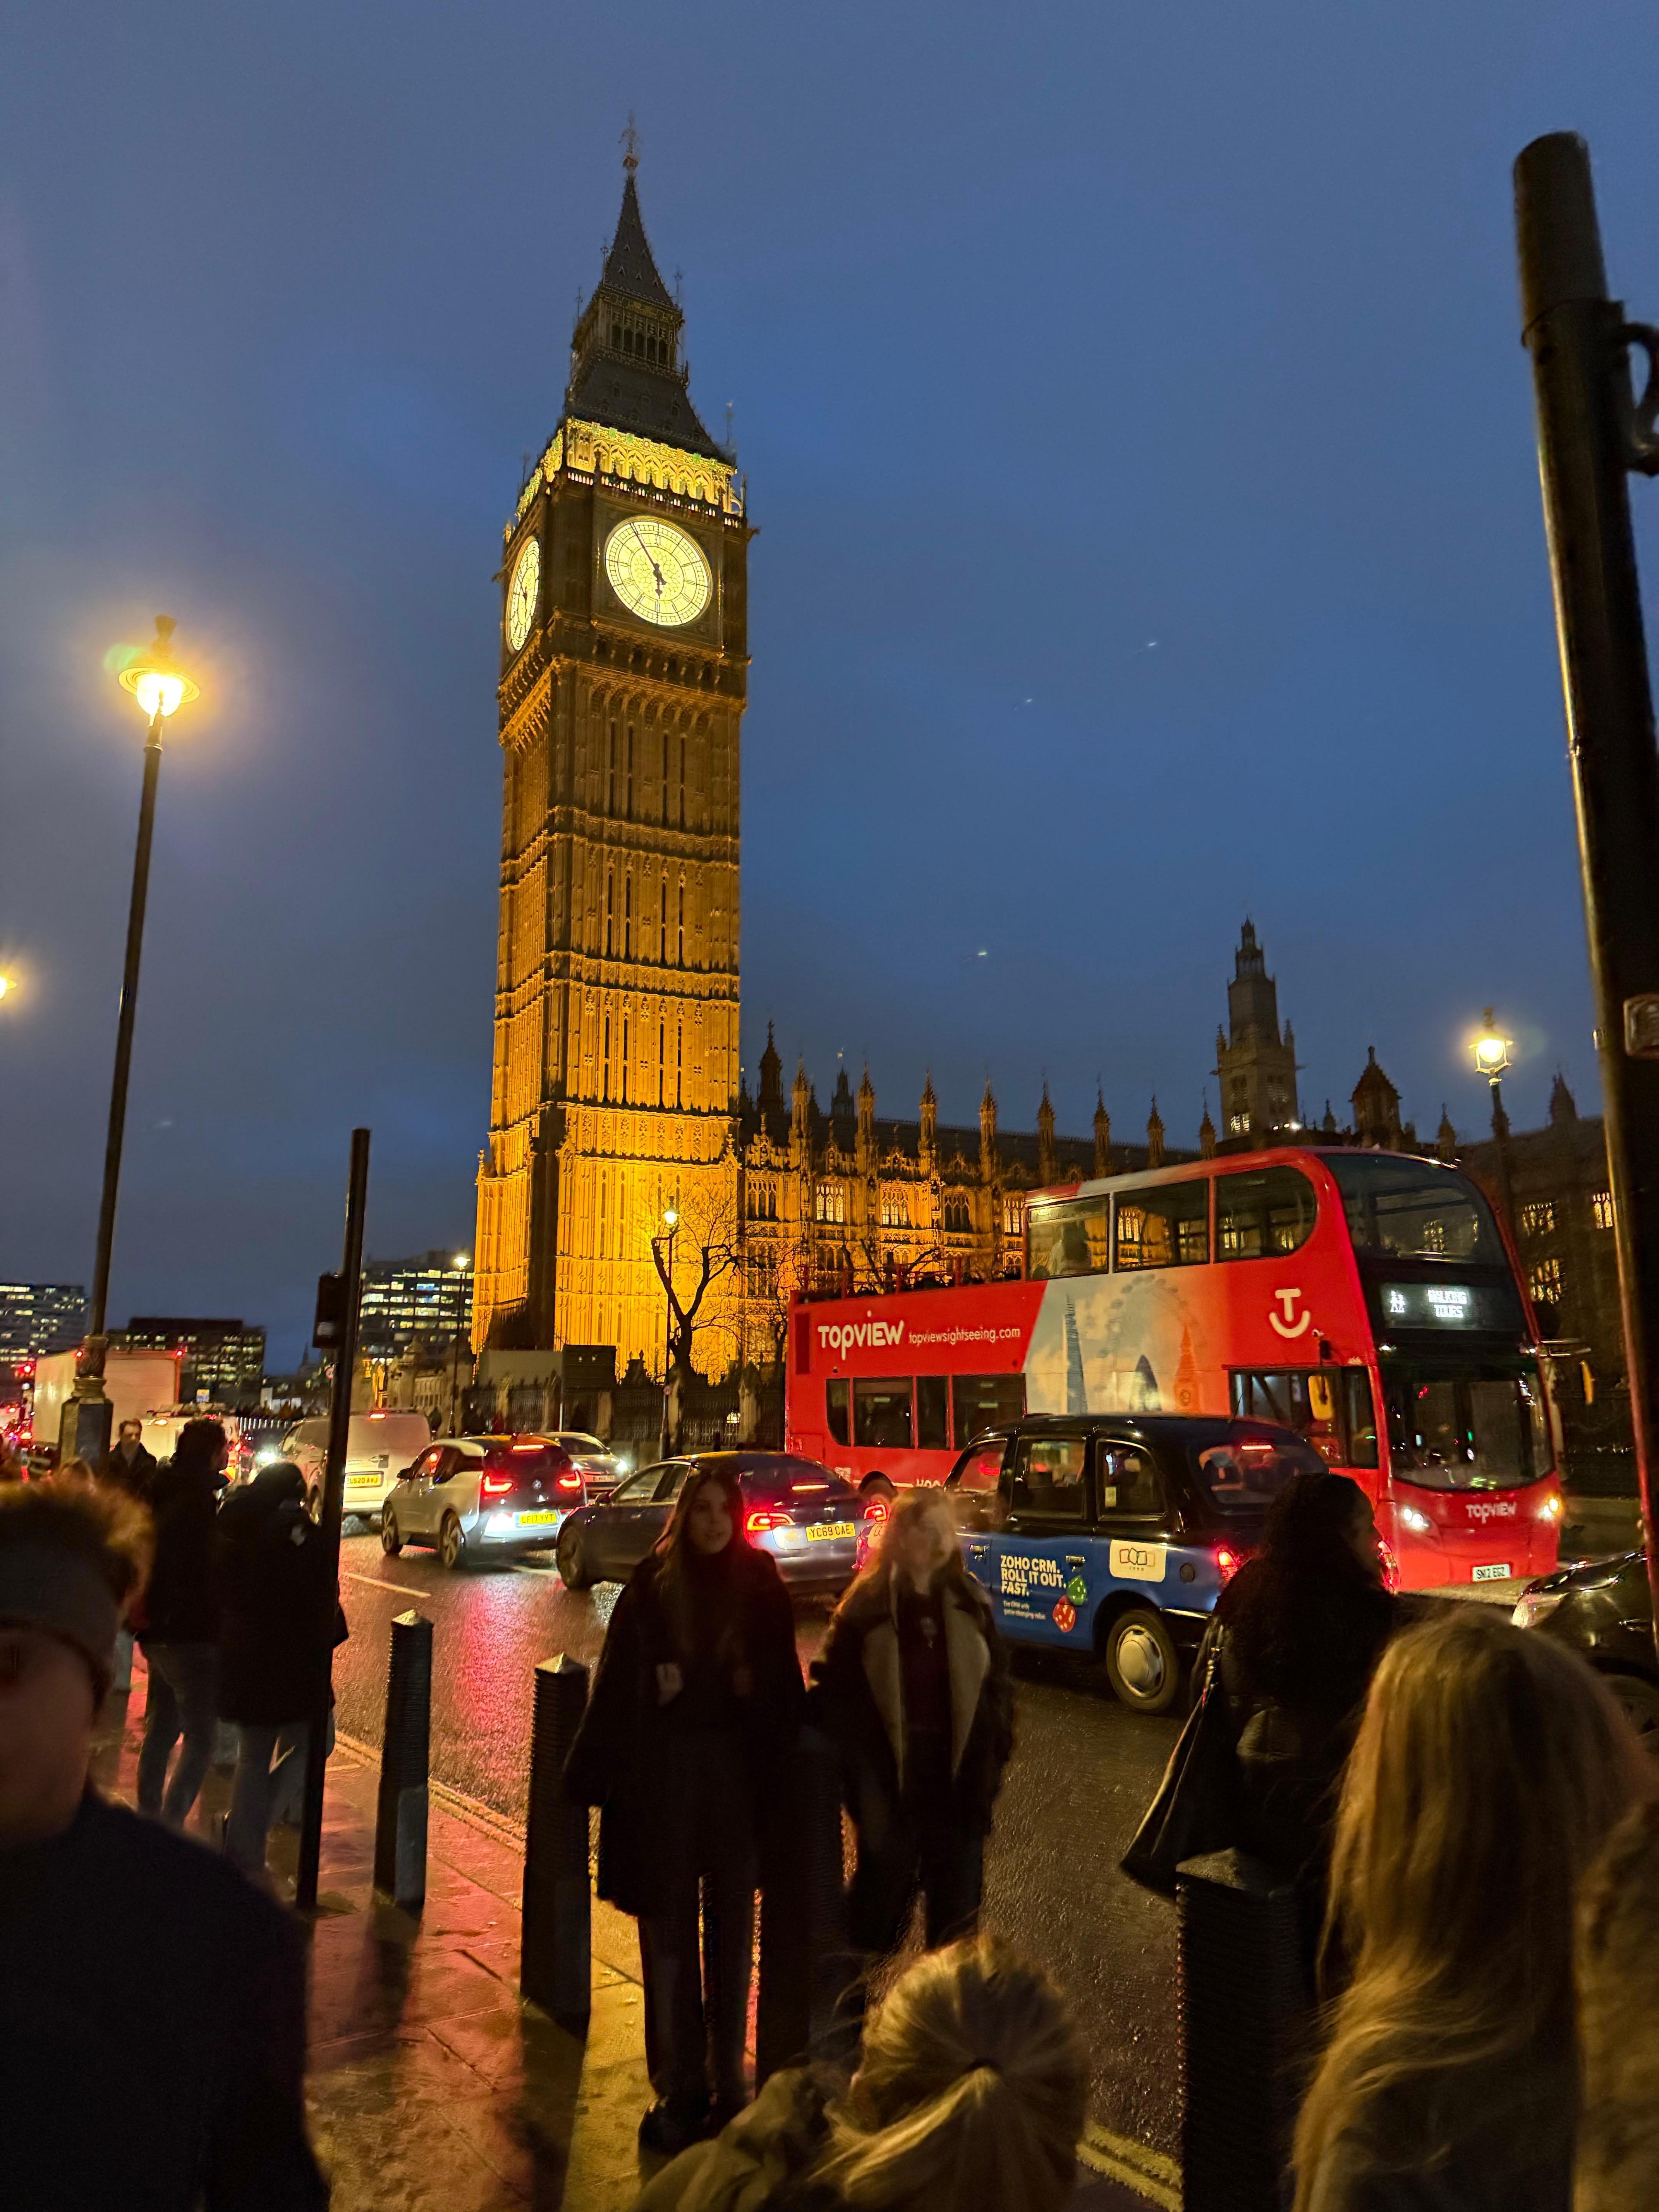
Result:
<svg viewBox="0 0 1659 2212"><path fill-rule="evenodd" d="M743 2104L754 1962L754 1812L734 1734L670 1739L655 1900L639 1916L646 2068L657 2097ZM701 1936L701 1940L699 1940Z"/></svg>

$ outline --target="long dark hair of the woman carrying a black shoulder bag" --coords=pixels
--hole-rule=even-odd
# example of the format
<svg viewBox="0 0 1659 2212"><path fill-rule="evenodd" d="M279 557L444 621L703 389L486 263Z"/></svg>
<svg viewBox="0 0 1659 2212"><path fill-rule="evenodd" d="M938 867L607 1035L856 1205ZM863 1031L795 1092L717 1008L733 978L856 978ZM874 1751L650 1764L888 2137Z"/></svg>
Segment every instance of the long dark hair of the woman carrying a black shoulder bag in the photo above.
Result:
<svg viewBox="0 0 1659 2212"><path fill-rule="evenodd" d="M1389 1637L1394 1599L1380 1564L1354 1551L1369 1511L1358 1482L1329 1469L1292 1475L1267 1511L1261 1551L1221 1601L1250 1681L1283 1705L1356 1705Z"/></svg>

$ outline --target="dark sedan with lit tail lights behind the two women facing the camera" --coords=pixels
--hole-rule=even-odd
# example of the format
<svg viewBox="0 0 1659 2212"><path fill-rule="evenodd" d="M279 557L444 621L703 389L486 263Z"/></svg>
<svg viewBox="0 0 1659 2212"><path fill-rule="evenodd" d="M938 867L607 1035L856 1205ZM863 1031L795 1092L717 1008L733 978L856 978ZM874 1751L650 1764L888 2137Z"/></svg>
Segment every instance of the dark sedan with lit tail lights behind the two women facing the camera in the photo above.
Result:
<svg viewBox="0 0 1659 2212"><path fill-rule="evenodd" d="M611 1498L566 1517L557 1542L564 1588L626 1582L668 1526L692 1467L717 1464L737 1471L748 1540L776 1559L790 1588L832 1593L852 1582L865 1511L852 1482L785 1451L697 1451L641 1467Z"/></svg>

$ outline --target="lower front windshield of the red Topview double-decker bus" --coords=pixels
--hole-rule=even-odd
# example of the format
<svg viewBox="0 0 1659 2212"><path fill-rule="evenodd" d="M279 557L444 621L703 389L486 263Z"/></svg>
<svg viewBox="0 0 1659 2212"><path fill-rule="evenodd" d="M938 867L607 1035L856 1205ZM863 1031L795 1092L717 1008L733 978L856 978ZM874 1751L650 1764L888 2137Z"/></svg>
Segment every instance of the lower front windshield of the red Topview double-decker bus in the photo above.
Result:
<svg viewBox="0 0 1659 2212"><path fill-rule="evenodd" d="M1551 1471L1535 1374L1383 1365L1394 1473L1425 1491L1511 1491Z"/></svg>

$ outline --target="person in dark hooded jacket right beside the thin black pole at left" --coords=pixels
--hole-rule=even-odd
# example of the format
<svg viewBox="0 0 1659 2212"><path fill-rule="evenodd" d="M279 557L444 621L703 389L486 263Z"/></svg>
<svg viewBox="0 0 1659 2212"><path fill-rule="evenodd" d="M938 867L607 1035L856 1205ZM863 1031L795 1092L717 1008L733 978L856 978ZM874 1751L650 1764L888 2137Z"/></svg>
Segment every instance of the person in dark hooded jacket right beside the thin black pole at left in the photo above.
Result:
<svg viewBox="0 0 1659 2212"><path fill-rule="evenodd" d="M305 1475L265 1467L219 1511L219 1712L237 1723L226 1854L265 1865L272 1818L299 1805L305 1747L327 1690L327 1655L345 1639L323 1531L305 1511Z"/></svg>

